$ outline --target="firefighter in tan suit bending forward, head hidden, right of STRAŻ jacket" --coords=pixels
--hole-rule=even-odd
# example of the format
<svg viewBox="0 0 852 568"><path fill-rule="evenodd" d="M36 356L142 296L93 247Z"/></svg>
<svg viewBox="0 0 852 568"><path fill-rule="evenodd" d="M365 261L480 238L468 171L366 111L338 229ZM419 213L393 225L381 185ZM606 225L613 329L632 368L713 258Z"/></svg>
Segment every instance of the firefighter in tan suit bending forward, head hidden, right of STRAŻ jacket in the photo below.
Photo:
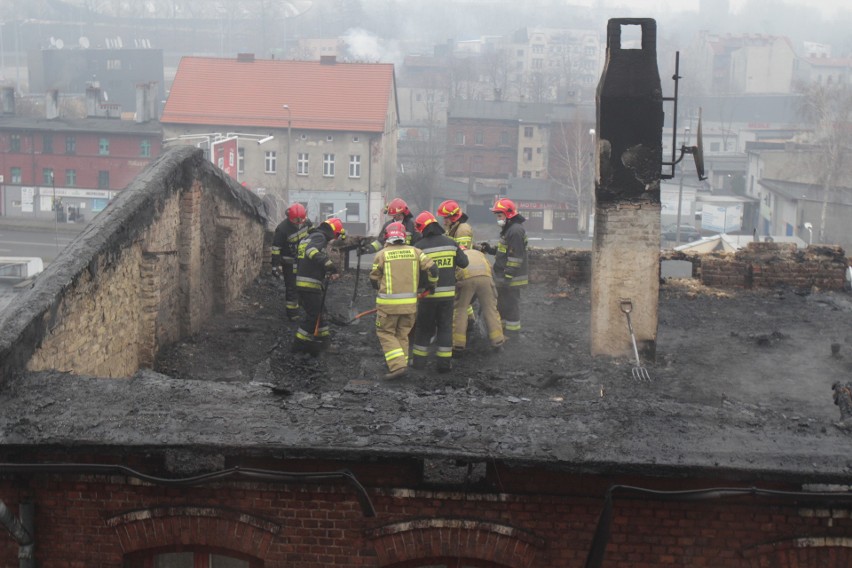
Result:
<svg viewBox="0 0 852 568"><path fill-rule="evenodd" d="M461 247L462 250L465 247ZM471 300L479 299L482 317L488 330L488 341L495 351L503 350L506 341L497 311L497 288L492 277L491 263L478 250L465 250L468 265L456 269L456 301L453 310L453 353L460 356L467 347L467 308Z"/></svg>

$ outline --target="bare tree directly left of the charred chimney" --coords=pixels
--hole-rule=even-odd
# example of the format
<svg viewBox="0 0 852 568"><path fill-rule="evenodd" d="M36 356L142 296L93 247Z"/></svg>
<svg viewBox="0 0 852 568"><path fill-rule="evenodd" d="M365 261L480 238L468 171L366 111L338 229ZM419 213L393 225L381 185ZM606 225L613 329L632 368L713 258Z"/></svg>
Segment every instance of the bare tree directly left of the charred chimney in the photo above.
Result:
<svg viewBox="0 0 852 568"><path fill-rule="evenodd" d="M592 209L593 166L595 137L591 124L575 118L554 122L550 134L548 176L560 188L560 197L577 202L577 229L588 230L587 220Z"/></svg>

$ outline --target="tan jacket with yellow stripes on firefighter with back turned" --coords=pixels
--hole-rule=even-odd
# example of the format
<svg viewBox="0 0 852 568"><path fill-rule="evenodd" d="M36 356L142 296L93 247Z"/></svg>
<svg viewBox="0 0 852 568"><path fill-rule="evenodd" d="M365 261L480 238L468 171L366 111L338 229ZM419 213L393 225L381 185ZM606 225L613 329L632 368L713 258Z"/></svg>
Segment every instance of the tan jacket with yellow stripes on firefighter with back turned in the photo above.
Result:
<svg viewBox="0 0 852 568"><path fill-rule="evenodd" d="M370 281L379 293L376 307L387 314L417 312L420 272L431 286L438 282L438 267L424 252L409 245L388 244L376 253Z"/></svg>

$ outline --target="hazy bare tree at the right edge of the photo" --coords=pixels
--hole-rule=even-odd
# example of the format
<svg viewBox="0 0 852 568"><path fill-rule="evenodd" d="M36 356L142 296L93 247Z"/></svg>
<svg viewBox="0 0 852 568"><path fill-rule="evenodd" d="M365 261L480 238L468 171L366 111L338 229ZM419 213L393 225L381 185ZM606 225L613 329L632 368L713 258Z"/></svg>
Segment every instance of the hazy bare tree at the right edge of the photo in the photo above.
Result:
<svg viewBox="0 0 852 568"><path fill-rule="evenodd" d="M808 160L813 179L822 187L819 242L826 241L829 201L837 201L838 185L849 170L852 152L852 88L846 84L800 85L804 95L800 113L814 125L811 140L814 152ZM835 199L831 200L830 197Z"/></svg>

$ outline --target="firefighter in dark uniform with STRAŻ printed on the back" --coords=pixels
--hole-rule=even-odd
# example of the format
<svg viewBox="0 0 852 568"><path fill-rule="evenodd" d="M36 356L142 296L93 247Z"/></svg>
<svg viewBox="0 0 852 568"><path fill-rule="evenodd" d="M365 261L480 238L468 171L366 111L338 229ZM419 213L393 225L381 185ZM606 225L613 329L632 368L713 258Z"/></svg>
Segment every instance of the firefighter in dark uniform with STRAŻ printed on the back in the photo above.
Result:
<svg viewBox="0 0 852 568"><path fill-rule="evenodd" d="M425 369L429 356L429 343L436 337L437 369L447 373L453 368L453 300L456 295L456 268L467 266L467 256L458 243L444 234L435 216L424 211L414 221L414 228L422 237L417 248L431 258L438 267L438 284L435 291L417 303L417 326L414 328L414 345L411 349L411 366Z"/></svg>

